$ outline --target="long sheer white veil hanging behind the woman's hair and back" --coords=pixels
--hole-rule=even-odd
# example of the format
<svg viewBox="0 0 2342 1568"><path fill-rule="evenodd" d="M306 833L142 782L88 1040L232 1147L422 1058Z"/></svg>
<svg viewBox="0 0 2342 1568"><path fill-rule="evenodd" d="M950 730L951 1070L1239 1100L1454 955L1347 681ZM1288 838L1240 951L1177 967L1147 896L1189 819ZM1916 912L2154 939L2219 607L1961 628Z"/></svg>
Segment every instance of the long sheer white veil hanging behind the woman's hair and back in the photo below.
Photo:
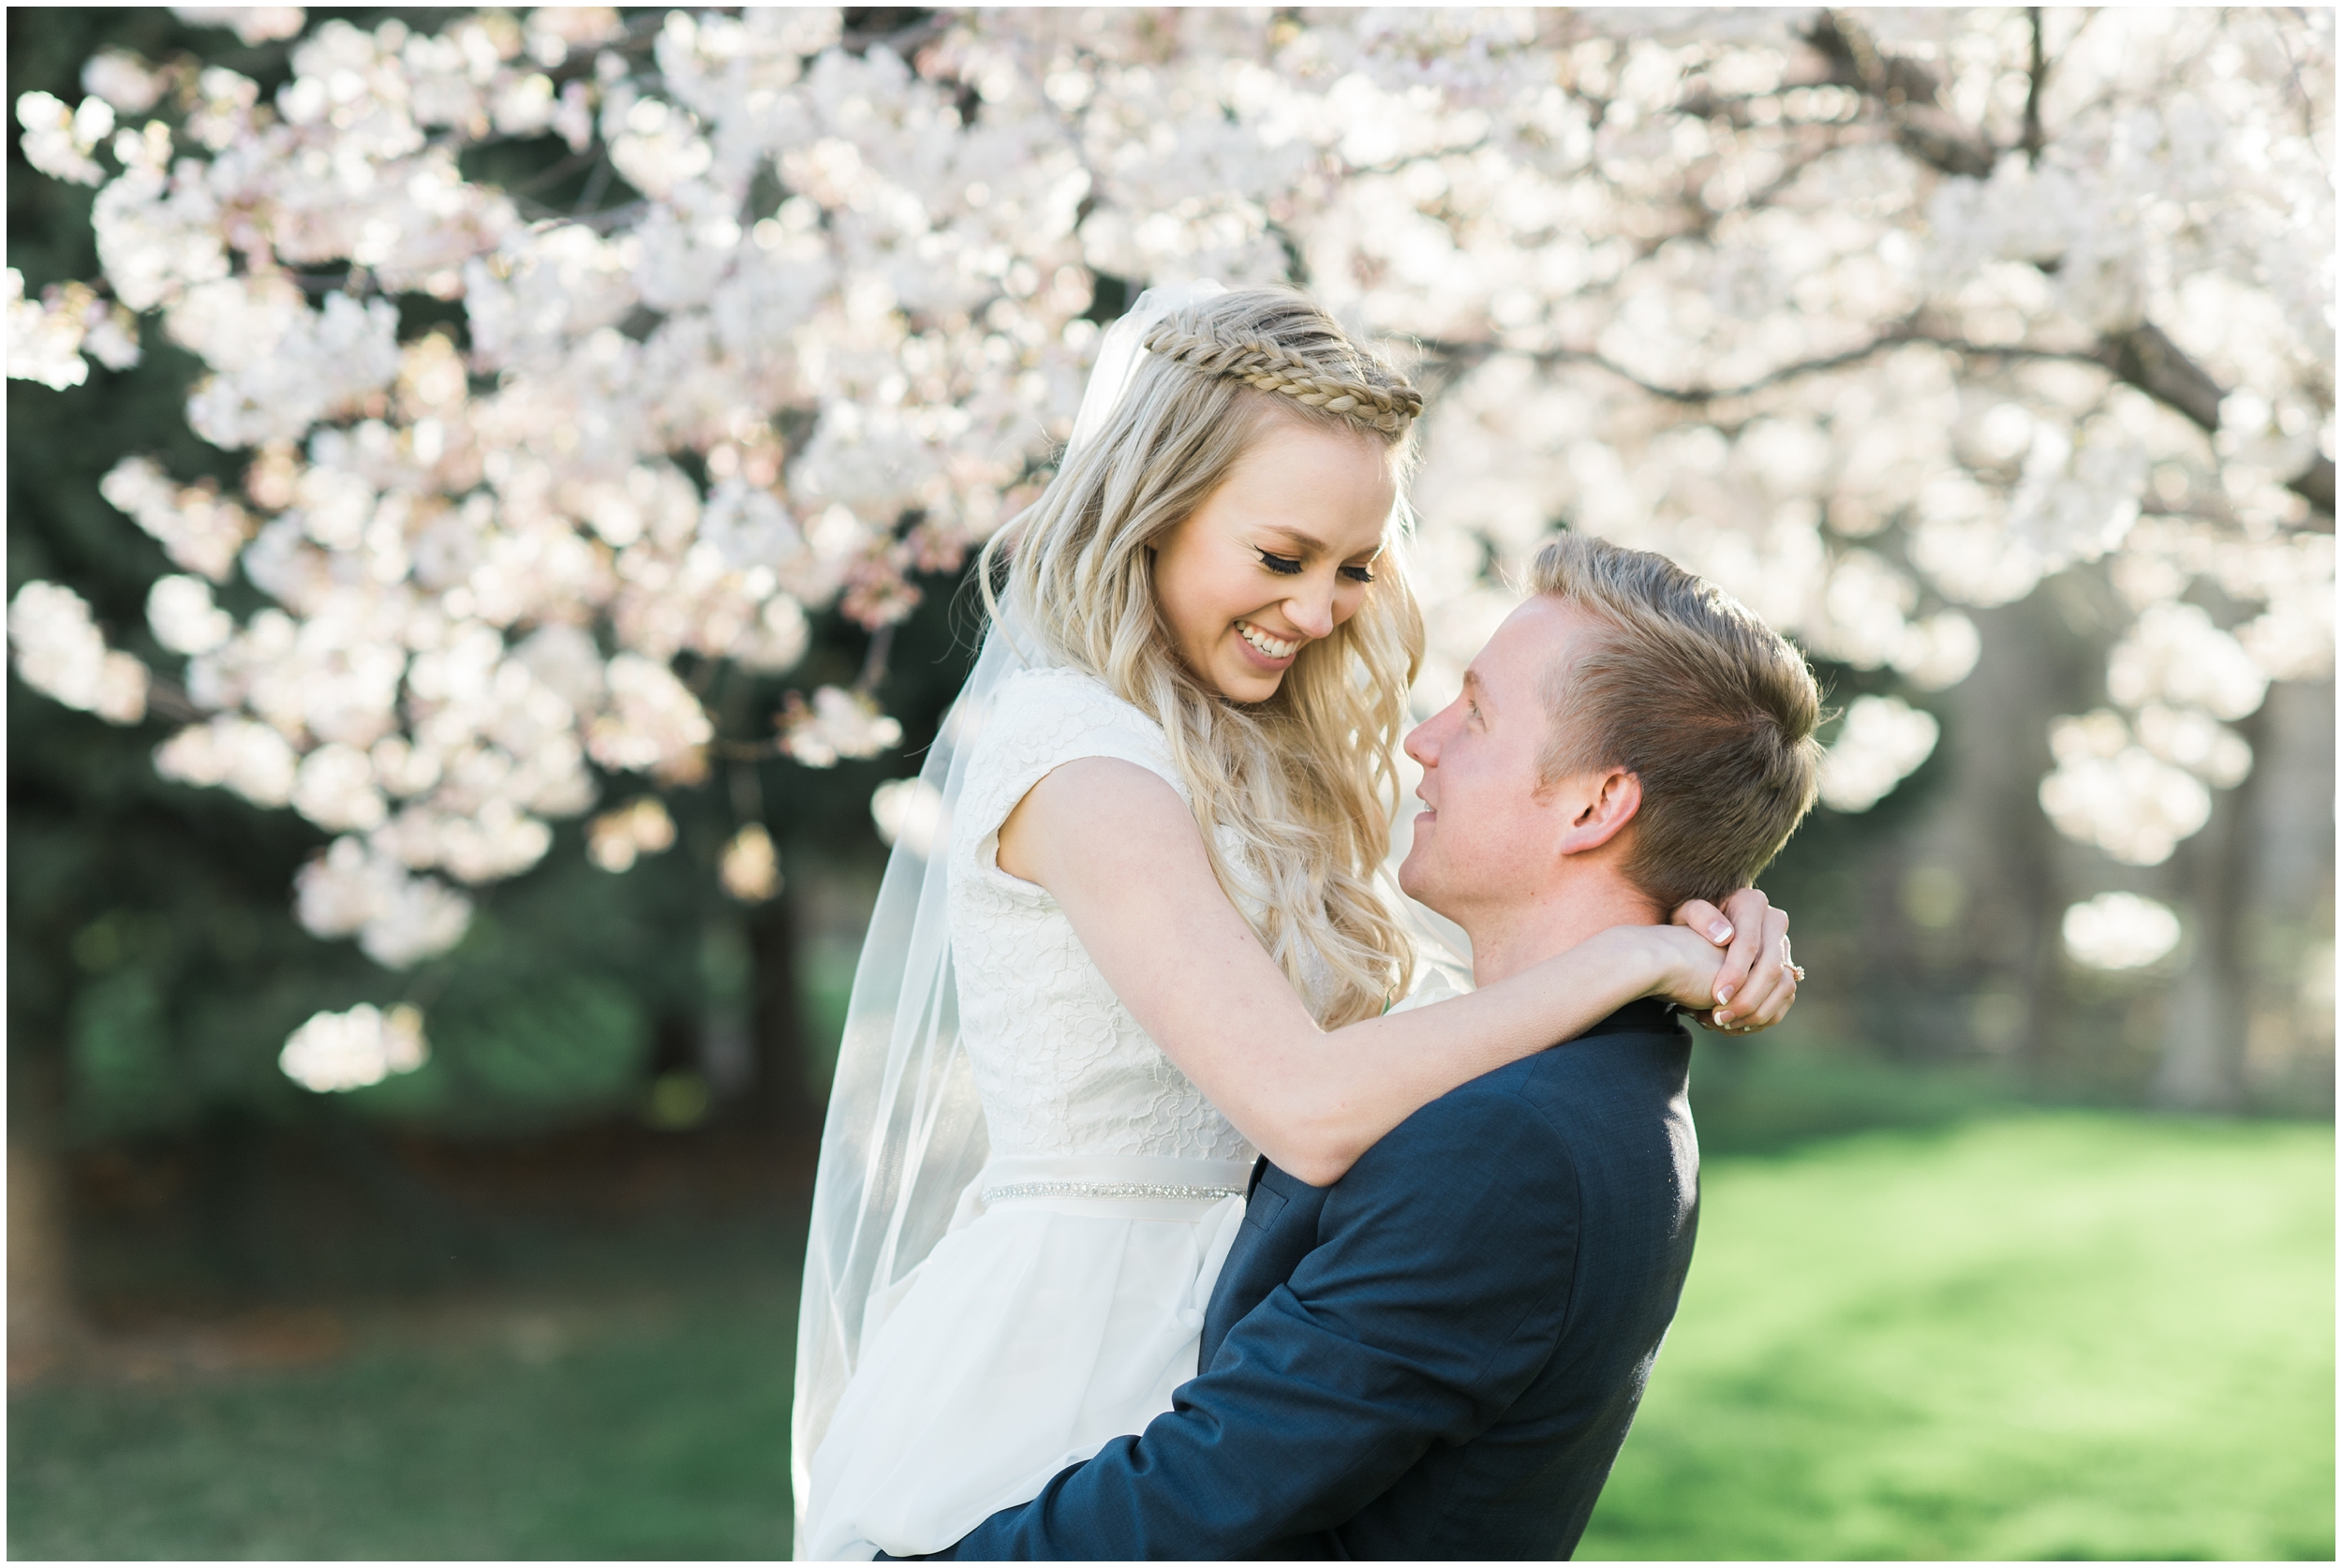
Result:
<svg viewBox="0 0 2342 1568"><path fill-rule="evenodd" d="M1164 316L1223 293L1218 283L1150 288L1098 339L1066 459L1096 440L1138 370L1141 342ZM977 737L1000 683L1035 651L991 627L984 653L918 770L871 910L845 1004L838 1074L829 1088L813 1177L806 1294L796 1320L796 1411L789 1472L796 1540L810 1509L813 1451L860 1362L871 1308L951 1229L960 1194L991 1156L984 1107L960 1051L946 887L951 821ZM932 833L925 831L932 819Z"/></svg>

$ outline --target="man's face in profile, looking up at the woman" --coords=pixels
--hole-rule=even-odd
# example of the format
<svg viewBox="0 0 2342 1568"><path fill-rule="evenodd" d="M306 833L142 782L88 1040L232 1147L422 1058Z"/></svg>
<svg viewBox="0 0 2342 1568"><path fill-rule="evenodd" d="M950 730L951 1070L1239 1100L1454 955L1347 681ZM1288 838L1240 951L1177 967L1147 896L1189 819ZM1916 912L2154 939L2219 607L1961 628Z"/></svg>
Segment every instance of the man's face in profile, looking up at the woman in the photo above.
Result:
<svg viewBox="0 0 2342 1568"><path fill-rule="evenodd" d="M1553 737L1546 679L1595 630L1586 611L1536 594L1487 639L1457 700L1408 735L1408 756L1424 768L1415 793L1429 807L1398 868L1408 896L1468 924L1478 908L1550 887L1569 805L1539 779Z"/></svg>

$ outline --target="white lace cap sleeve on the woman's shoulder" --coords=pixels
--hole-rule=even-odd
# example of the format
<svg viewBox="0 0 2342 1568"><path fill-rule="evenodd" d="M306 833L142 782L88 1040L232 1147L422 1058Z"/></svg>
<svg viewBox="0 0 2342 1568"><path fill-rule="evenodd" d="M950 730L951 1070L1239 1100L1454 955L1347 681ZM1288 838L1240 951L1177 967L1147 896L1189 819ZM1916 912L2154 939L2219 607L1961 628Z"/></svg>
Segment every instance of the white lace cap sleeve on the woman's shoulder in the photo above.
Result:
<svg viewBox="0 0 2342 1568"><path fill-rule="evenodd" d="M1000 871L1000 824L1026 791L1084 756L1136 763L1187 800L1187 784L1171 763L1162 725L1091 674L1023 669L1000 686L974 756L967 758L967 784L953 821L953 871L1014 880Z"/></svg>

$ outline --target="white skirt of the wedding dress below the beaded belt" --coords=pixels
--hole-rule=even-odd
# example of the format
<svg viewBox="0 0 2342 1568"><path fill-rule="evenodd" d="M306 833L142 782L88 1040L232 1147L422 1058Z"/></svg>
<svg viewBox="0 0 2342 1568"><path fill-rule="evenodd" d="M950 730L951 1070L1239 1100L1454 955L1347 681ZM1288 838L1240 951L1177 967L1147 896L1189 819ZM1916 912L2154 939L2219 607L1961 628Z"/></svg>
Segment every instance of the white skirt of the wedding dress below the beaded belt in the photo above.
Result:
<svg viewBox="0 0 2342 1568"><path fill-rule="evenodd" d="M874 1304L799 1521L801 1556L953 1545L1171 1409L1251 1165L995 1158Z"/></svg>

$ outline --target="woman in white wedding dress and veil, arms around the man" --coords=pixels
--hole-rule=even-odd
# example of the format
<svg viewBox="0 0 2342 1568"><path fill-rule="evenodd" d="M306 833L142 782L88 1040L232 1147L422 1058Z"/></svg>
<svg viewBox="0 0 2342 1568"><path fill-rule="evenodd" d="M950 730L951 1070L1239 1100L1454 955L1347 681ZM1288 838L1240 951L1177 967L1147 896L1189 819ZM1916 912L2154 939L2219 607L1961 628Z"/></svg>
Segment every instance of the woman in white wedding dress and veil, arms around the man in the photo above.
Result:
<svg viewBox="0 0 2342 1568"><path fill-rule="evenodd" d="M822 1135L801 1559L949 1547L1171 1409L1255 1154L1335 1182L1635 997L1731 1002L1780 922L1740 894L1731 955L1616 927L1391 1006L1417 971L1377 875L1422 653L1393 527L1419 410L1302 295L1150 290L986 550L993 627L927 756L932 838L888 866ZM1717 1020L1792 995L1766 967Z"/></svg>

